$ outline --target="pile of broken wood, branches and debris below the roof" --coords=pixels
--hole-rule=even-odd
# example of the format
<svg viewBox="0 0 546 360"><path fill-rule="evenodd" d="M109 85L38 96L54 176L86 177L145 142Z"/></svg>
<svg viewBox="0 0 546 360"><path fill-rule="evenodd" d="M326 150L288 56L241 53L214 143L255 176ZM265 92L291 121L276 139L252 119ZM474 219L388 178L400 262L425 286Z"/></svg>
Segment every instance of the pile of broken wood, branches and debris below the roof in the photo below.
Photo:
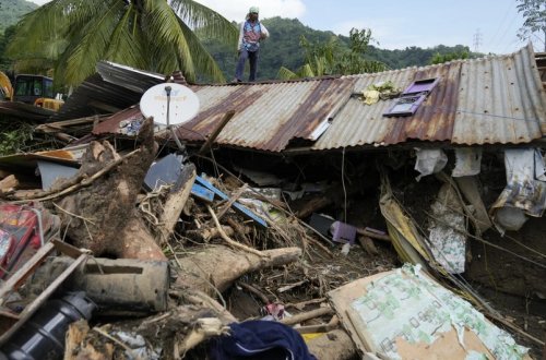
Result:
<svg viewBox="0 0 546 360"><path fill-rule="evenodd" d="M43 124L70 146L0 157L0 356L539 353L545 319L482 287L505 262L498 289L544 305L541 147L280 160L133 112Z"/></svg>

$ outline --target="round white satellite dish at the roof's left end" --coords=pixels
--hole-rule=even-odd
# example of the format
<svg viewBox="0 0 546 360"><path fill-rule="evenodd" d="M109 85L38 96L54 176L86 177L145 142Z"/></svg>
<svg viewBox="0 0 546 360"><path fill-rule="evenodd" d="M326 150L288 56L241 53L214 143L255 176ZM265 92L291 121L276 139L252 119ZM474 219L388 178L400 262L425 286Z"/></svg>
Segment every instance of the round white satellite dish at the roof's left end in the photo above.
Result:
<svg viewBox="0 0 546 360"><path fill-rule="evenodd" d="M189 87L180 84L158 84L142 95L140 110L146 118L154 117L157 124L181 124L198 113L199 97Z"/></svg>

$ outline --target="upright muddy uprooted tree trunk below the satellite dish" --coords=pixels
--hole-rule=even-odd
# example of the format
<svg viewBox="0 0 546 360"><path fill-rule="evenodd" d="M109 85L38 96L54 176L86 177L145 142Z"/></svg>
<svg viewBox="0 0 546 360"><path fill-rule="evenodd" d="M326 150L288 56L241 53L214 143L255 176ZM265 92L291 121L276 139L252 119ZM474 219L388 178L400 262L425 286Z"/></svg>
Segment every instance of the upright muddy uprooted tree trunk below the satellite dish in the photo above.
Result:
<svg viewBox="0 0 546 360"><path fill-rule="evenodd" d="M145 120L138 140L139 151L97 178L93 176L120 156L108 142L92 142L76 176L93 181L56 203L74 245L90 249L95 256L166 260L135 211L136 195L157 149L152 119Z"/></svg>

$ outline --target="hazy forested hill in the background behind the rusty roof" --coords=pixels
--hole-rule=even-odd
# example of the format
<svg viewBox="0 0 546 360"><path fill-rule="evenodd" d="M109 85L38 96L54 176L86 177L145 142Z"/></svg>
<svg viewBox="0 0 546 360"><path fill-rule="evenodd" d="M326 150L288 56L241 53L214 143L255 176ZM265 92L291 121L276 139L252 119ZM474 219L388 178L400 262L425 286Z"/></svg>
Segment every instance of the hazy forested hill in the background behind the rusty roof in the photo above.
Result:
<svg viewBox="0 0 546 360"><path fill-rule="evenodd" d="M260 80L276 79L281 67L297 70L304 63L304 50L299 45L301 35L311 43L328 43L331 37L336 36L332 32L316 31L305 26L297 19L271 17L262 20L262 23L270 32L270 38L263 41L260 51L259 77ZM371 29L373 37L373 29ZM336 36L340 43L347 46L349 43L346 36ZM381 39L378 39L381 40ZM234 77L235 62L237 60L236 46L222 44L215 39L204 41L209 52L218 62L226 79ZM438 45L434 48L422 49L418 47L407 47L402 50L384 50L375 46L368 48L366 58L387 63L390 69L403 69L414 65L427 65L436 53L471 53L468 47L458 45L447 47Z"/></svg>

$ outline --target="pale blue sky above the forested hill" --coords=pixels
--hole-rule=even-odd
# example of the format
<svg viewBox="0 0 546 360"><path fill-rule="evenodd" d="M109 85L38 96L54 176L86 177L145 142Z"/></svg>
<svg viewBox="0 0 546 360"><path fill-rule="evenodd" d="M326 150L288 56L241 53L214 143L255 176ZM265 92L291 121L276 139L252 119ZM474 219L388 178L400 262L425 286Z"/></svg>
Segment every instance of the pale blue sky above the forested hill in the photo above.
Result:
<svg viewBox="0 0 546 360"><path fill-rule="evenodd" d="M228 20L242 21L251 5L260 17L299 19L314 29L348 35L371 28L379 48L465 45L480 52L508 53L526 43L515 0L197 0ZM38 4L45 0L33 0ZM274 41L274 39L270 39ZM535 44L535 49L544 48Z"/></svg>

